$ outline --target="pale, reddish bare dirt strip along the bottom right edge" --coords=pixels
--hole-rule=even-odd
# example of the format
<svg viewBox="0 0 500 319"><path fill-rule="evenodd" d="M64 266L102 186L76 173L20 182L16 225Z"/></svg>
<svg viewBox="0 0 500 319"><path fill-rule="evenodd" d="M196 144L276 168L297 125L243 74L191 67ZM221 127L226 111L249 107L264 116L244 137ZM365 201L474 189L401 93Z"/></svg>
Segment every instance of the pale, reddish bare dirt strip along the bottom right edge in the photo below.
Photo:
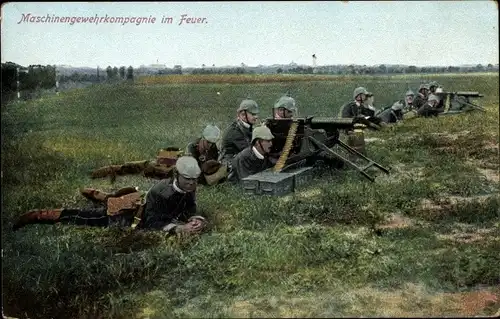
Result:
<svg viewBox="0 0 500 319"><path fill-rule="evenodd" d="M492 316L500 307L499 287L459 293L431 293L422 285L407 284L404 289L384 291L365 287L335 291L304 298L269 297L239 300L229 306L235 317L269 316L287 318L331 316L381 317L470 317ZM376 301L376 302L374 302ZM367 302L376 307L367 307ZM341 306L331 307L332 304ZM330 307L326 306L330 305ZM318 312L317 309L328 309Z"/></svg>

